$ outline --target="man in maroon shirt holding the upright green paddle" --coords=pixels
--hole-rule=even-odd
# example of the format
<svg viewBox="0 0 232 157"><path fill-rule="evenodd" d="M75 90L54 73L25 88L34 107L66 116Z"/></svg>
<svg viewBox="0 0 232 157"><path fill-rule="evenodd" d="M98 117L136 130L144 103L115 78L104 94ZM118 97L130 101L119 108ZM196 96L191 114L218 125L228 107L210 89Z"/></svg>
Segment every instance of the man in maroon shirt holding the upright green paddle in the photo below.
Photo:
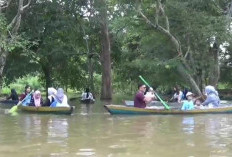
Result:
<svg viewBox="0 0 232 157"><path fill-rule="evenodd" d="M151 97L145 97L144 92L146 91L146 86L144 84L138 85L138 92L134 97L134 107L145 108L146 104L152 101Z"/></svg>

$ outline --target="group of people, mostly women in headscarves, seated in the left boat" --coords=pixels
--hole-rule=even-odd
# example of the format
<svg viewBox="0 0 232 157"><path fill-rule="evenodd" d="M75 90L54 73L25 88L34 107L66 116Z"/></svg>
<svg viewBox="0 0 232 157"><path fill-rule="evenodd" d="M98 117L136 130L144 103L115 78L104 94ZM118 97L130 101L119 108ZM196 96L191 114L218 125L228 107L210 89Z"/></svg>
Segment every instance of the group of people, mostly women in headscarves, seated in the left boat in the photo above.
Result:
<svg viewBox="0 0 232 157"><path fill-rule="evenodd" d="M7 99L19 100L23 106L50 106L50 107L69 107L68 98L62 88L57 90L53 87L48 88L48 97L43 101L41 92L39 90L31 91L29 85L25 86L25 91L18 97L15 89L11 89L11 95Z"/></svg>

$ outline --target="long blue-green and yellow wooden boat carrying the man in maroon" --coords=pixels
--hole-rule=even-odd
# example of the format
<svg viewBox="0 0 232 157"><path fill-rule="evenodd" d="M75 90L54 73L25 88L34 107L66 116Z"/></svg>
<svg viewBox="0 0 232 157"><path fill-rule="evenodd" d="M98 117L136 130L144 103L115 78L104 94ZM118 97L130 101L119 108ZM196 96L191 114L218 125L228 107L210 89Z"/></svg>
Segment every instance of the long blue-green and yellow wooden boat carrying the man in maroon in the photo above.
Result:
<svg viewBox="0 0 232 157"><path fill-rule="evenodd" d="M157 108L136 108L125 105L105 105L106 110L110 114L205 114L205 113L232 113L232 106L224 106L218 108L205 108L182 111L180 109L166 110L163 107Z"/></svg>

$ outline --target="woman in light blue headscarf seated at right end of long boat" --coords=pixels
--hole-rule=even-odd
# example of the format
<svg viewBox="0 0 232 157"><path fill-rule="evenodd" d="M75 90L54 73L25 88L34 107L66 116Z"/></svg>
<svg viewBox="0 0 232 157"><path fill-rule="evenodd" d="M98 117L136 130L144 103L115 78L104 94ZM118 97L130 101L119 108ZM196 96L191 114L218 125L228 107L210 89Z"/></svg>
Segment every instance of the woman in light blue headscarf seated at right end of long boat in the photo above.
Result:
<svg viewBox="0 0 232 157"><path fill-rule="evenodd" d="M206 100L202 103L203 106L208 106L209 108L218 107L220 105L220 98L217 90L213 86L205 87L205 94L207 96Z"/></svg>

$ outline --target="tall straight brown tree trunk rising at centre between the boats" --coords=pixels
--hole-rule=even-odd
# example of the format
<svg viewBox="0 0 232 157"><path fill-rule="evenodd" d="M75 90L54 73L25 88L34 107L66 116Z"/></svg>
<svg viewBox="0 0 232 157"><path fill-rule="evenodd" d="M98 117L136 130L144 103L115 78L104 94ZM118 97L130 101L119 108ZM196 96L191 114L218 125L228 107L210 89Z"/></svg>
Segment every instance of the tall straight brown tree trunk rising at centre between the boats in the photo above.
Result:
<svg viewBox="0 0 232 157"><path fill-rule="evenodd" d="M111 56L110 56L110 37L107 24L107 6L105 0L100 2L100 17L101 17L101 64L102 64L102 88L101 99L112 99L112 86L111 86Z"/></svg>

